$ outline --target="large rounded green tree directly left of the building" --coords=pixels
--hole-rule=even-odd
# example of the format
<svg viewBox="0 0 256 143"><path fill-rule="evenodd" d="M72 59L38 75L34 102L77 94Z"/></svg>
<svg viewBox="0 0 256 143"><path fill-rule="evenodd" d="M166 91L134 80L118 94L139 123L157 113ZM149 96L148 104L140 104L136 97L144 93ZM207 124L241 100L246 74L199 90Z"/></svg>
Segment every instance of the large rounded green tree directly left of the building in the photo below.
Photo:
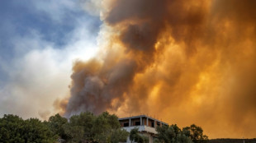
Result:
<svg viewBox="0 0 256 143"><path fill-rule="evenodd" d="M73 115L64 125L64 132L71 136L69 142L120 142L129 136L121 130L116 115L107 112L98 116L89 112Z"/></svg>

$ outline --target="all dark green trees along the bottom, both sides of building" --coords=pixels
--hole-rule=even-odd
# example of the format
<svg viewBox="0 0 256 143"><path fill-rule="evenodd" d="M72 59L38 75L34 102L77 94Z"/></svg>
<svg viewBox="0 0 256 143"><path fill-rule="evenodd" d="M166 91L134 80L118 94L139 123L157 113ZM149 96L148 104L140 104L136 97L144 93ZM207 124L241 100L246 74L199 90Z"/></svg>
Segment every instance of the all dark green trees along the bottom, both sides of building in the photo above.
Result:
<svg viewBox="0 0 256 143"><path fill-rule="evenodd" d="M201 127L191 125L180 129L176 124L157 127L158 134L154 142L160 143L204 143L208 137L203 135ZM48 121L37 118L22 119L17 115L4 115L0 118L0 143L85 143L126 142L147 143L149 138L140 134L138 128L127 132L115 114L104 112L100 115L80 113L69 120L59 114Z"/></svg>

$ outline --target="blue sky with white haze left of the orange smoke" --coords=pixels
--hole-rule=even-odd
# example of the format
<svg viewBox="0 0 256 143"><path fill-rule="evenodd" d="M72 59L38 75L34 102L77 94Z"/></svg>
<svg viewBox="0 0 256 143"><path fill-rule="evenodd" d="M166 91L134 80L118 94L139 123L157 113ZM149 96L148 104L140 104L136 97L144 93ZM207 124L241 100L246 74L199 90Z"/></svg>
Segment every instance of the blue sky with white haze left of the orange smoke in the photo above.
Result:
<svg viewBox="0 0 256 143"><path fill-rule="evenodd" d="M80 1L1 1L0 115L45 118L69 95L72 65L97 51L98 14Z"/></svg>

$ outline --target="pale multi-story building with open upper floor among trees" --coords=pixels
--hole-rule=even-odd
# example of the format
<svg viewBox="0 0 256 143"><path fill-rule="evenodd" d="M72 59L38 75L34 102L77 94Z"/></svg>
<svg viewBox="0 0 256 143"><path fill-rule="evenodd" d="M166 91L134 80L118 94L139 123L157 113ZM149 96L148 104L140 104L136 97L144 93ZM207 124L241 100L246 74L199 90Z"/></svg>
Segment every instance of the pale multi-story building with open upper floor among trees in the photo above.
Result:
<svg viewBox="0 0 256 143"><path fill-rule="evenodd" d="M155 118L150 118L146 115L133 116L129 118L119 118L118 119L121 127L126 131L129 131L138 128L140 134L149 137L149 143L153 143L154 137L157 134L156 127L158 126L168 126L168 123L159 121ZM127 142L131 142L130 139L127 139Z"/></svg>

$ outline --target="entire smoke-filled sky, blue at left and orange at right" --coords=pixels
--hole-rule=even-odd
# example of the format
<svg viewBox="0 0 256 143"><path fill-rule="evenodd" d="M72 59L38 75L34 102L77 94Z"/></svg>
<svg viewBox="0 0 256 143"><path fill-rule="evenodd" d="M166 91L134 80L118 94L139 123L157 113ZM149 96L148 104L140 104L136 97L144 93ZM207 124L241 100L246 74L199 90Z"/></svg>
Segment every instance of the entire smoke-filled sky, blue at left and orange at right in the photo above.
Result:
<svg viewBox="0 0 256 143"><path fill-rule="evenodd" d="M0 116L144 113L253 138L255 4L1 1Z"/></svg>

